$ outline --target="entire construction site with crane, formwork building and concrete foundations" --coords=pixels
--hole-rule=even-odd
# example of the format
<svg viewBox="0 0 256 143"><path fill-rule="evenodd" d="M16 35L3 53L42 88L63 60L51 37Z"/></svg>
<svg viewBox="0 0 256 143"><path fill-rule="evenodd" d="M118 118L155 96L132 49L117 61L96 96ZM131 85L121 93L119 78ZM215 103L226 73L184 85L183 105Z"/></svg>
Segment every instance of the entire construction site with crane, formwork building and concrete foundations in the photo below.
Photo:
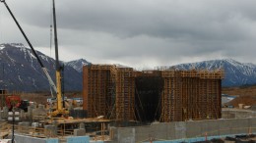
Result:
<svg viewBox="0 0 256 143"><path fill-rule="evenodd" d="M90 64L83 66L82 99L65 98L55 1L50 26L54 27L55 82L6 1L0 2L25 37L51 91L47 104L39 104L1 90L0 142L255 142L255 112L243 106L222 108L222 69L136 71Z"/></svg>

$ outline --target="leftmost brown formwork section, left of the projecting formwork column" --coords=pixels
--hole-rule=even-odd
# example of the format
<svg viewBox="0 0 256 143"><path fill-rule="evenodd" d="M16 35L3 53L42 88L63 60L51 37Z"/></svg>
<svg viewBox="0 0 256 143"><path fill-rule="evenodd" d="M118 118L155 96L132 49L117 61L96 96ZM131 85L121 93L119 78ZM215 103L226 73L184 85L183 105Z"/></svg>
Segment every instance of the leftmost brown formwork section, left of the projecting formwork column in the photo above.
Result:
<svg viewBox="0 0 256 143"><path fill-rule="evenodd" d="M91 65L84 67L84 101L83 109L88 111L88 116L107 117L113 106L115 94L114 66Z"/></svg>

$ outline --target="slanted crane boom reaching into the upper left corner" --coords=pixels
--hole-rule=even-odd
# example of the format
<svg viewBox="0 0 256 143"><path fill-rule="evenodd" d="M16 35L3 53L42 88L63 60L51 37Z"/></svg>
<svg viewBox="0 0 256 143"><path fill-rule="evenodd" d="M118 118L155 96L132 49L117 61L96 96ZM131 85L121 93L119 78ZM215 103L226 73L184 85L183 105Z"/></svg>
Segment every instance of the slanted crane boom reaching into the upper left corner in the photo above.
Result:
<svg viewBox="0 0 256 143"><path fill-rule="evenodd" d="M10 15L12 16L13 20L15 21L15 23L17 24L17 26L19 27L19 29L21 30L23 36L25 37L26 41L28 42L29 46L31 47L32 49L32 54L35 56L36 60L38 61L42 71L45 73L47 79L48 79L48 82L51 86L51 88L53 88L53 90L55 91L55 93L57 93L57 88L56 88L56 85L54 84L52 78L50 77L47 69L43 66L40 58L38 57L38 55L36 54L35 50L33 49L32 47L32 43L30 42L28 36L26 35L26 33L24 32L22 26L18 23L18 21L16 20L16 18L14 17L11 9L8 7L7 3L5 2L5 0L0 0L0 2L4 3L5 7L7 8L8 12L10 13Z"/></svg>

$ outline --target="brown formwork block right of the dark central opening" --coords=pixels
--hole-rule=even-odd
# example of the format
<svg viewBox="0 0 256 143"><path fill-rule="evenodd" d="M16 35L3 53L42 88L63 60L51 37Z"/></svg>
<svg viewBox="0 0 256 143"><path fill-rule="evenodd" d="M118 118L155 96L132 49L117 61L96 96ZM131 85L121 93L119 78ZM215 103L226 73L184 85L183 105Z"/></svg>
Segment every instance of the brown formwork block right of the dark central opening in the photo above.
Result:
<svg viewBox="0 0 256 143"><path fill-rule="evenodd" d="M160 120L221 118L223 71L162 71Z"/></svg>

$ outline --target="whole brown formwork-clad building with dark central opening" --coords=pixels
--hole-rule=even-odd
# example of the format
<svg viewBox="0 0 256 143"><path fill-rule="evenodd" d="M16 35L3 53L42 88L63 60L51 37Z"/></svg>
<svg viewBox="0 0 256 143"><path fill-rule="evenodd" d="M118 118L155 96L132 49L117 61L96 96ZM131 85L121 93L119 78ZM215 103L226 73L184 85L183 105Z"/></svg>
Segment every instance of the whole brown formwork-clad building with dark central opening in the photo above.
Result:
<svg viewBox="0 0 256 143"><path fill-rule="evenodd" d="M84 110L106 119L162 122L222 118L224 71L83 68Z"/></svg>

